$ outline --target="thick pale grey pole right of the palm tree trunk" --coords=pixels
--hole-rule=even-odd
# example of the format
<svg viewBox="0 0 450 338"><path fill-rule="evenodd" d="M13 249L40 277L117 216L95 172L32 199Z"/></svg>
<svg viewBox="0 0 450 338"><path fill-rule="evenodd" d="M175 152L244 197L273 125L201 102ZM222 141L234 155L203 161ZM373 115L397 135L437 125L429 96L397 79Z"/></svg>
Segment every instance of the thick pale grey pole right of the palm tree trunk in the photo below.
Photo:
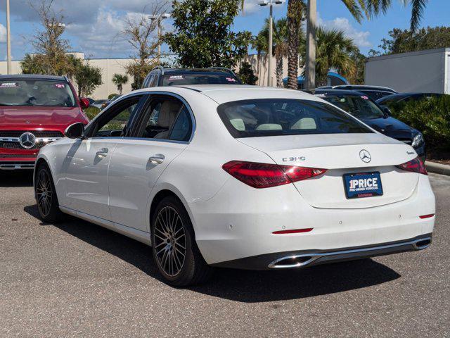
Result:
<svg viewBox="0 0 450 338"><path fill-rule="evenodd" d="M307 60L304 89L316 88L316 0L308 0L307 12Z"/></svg>

